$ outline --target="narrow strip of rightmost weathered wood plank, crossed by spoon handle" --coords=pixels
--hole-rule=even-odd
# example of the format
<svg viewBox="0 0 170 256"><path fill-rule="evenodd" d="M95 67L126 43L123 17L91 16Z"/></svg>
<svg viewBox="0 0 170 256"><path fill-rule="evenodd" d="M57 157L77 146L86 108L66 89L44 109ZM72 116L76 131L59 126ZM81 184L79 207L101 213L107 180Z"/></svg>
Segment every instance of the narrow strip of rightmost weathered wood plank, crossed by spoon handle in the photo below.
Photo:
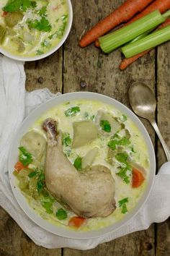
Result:
<svg viewBox="0 0 170 256"><path fill-rule="evenodd" d="M158 47L158 126L170 148L170 43ZM166 162L164 150L158 141L158 167ZM170 255L170 219L157 224L156 255Z"/></svg>

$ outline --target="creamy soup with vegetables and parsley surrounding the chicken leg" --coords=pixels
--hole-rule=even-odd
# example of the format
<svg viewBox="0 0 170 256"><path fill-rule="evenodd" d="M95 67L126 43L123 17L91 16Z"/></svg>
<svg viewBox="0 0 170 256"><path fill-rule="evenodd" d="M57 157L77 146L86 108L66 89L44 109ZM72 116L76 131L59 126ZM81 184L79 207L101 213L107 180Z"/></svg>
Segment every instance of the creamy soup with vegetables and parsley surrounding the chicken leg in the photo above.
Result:
<svg viewBox="0 0 170 256"><path fill-rule="evenodd" d="M58 202L45 188L47 137L42 123L47 118L58 122L63 138L63 153L77 171L86 172L87 166L102 165L109 168L115 179L116 210L104 218L86 218L79 230L100 229L122 220L135 208L143 195L150 167L146 142L133 121L117 108L100 101L71 101L50 109L30 127L30 132L37 132L44 139L38 154L35 152L34 138L31 140L32 145L29 145L28 134L22 138L22 148L19 151L22 167L18 168L21 163L17 163L14 171L22 193L30 207L42 218L71 229L73 227L69 227L69 223L76 214L67 205ZM76 135L73 130L73 124L78 121L91 121L97 127L97 136L90 135L91 140L88 142L87 139L83 145L82 132L79 131L80 134ZM31 161L29 155L32 157Z"/></svg>

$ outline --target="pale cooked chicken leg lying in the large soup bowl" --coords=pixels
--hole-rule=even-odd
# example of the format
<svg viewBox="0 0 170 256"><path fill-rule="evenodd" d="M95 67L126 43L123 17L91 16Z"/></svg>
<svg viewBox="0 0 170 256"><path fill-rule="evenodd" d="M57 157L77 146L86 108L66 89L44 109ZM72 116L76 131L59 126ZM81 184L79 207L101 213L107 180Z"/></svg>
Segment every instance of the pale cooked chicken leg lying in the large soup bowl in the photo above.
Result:
<svg viewBox="0 0 170 256"><path fill-rule="evenodd" d="M116 208L115 180L109 168L91 166L84 172L77 171L63 153L56 121L46 119L43 129L48 137L45 161L45 184L48 190L78 216L109 216Z"/></svg>

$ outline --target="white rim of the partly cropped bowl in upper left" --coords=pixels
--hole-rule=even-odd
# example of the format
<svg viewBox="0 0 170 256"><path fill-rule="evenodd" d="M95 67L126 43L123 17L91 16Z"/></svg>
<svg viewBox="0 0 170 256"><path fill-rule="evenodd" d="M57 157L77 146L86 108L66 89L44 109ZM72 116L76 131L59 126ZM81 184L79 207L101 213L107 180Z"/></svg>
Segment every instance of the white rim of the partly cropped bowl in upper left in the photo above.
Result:
<svg viewBox="0 0 170 256"><path fill-rule="evenodd" d="M73 8L72 8L71 0L66 0L66 2L68 5L68 25L66 27L66 31L63 35L63 38L57 44L57 46L51 48L50 51L47 51L45 54L41 54L41 55L37 55L37 56L30 56L30 57L17 55L17 54L11 54L9 51L4 50L4 48L0 46L1 54L4 54L5 56L9 57L10 59L15 59L17 61L37 61L39 59L44 59L45 57L48 57L50 54L53 54L55 51L57 51L63 45L63 43L66 41L68 34L70 33L71 25L73 22Z"/></svg>

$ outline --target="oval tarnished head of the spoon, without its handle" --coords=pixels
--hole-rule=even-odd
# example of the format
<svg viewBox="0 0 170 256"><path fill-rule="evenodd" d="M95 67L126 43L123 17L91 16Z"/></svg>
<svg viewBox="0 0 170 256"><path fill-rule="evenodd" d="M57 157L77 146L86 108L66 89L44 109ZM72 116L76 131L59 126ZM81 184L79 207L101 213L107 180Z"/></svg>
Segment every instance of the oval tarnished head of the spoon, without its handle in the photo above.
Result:
<svg viewBox="0 0 170 256"><path fill-rule="evenodd" d="M134 82L129 92L130 106L138 116L153 119L156 111L156 98L153 92L143 82Z"/></svg>

